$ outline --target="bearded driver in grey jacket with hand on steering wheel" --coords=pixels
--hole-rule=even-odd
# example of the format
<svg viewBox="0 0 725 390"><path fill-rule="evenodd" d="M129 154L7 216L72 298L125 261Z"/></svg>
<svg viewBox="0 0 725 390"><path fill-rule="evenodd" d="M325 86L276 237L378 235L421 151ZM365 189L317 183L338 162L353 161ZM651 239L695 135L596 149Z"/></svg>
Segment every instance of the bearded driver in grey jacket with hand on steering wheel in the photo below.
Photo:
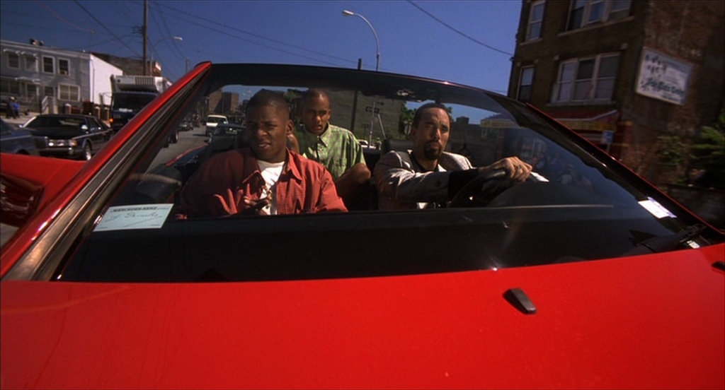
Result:
<svg viewBox="0 0 725 390"><path fill-rule="evenodd" d="M445 151L452 120L446 106L423 104L415 112L410 136L413 150L390 151L376 164L373 177L381 210L442 207L468 182L496 169L506 179L523 182L531 165L507 157L489 166L473 167L468 158Z"/></svg>

